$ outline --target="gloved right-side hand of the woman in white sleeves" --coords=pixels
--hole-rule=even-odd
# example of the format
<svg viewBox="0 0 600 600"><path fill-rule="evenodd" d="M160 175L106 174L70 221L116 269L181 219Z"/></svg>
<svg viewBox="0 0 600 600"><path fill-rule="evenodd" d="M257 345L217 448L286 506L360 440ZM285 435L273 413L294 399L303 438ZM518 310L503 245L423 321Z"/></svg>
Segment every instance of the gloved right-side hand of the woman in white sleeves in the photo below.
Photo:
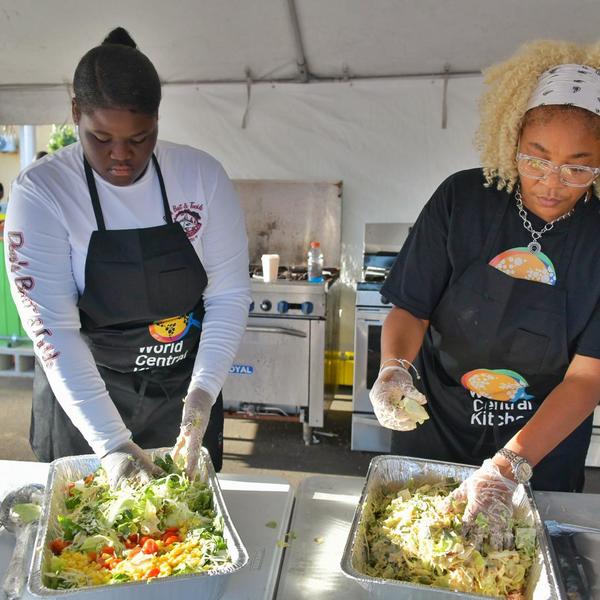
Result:
<svg viewBox="0 0 600 600"><path fill-rule="evenodd" d="M172 456L175 462L183 462L185 472L190 479L193 479L198 472L200 448L208 427L212 404L210 394L200 388L188 392L183 400L181 429Z"/></svg>

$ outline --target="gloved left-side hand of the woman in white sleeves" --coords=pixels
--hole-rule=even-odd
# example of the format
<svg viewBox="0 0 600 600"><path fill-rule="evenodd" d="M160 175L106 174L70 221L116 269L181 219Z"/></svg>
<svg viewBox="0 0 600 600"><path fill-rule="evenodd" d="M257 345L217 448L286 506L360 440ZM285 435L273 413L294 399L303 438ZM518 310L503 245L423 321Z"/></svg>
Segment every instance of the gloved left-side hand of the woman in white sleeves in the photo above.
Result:
<svg viewBox="0 0 600 600"><path fill-rule="evenodd" d="M103 456L100 462L113 490L125 481L143 485L154 477L164 475L163 470L132 440Z"/></svg>

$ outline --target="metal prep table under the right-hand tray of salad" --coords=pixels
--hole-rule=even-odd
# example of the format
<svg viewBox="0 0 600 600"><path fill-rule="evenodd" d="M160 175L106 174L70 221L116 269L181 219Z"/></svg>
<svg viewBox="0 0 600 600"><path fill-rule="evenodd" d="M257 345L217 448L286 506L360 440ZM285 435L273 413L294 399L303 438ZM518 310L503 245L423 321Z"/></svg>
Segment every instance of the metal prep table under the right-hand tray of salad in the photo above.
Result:
<svg viewBox="0 0 600 600"><path fill-rule="evenodd" d="M277 600L369 598L367 592L347 579L340 569L340 560L363 484L361 477L327 475L308 477L302 481L296 491L290 524L295 539L290 541L285 552ZM537 492L535 500L543 520L598 527L600 494ZM436 594L432 593L432 598L435 597Z"/></svg>

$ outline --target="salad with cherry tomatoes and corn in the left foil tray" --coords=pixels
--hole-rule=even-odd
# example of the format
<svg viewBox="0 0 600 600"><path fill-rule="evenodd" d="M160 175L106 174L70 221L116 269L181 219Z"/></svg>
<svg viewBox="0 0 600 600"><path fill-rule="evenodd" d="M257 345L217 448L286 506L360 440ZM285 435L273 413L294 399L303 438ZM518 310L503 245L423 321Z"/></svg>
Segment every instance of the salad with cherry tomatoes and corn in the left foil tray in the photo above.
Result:
<svg viewBox="0 0 600 600"><path fill-rule="evenodd" d="M49 542L48 587L152 580L231 563L209 486L190 481L168 455L156 462L167 472L141 487L113 491L102 468L66 486L60 535Z"/></svg>

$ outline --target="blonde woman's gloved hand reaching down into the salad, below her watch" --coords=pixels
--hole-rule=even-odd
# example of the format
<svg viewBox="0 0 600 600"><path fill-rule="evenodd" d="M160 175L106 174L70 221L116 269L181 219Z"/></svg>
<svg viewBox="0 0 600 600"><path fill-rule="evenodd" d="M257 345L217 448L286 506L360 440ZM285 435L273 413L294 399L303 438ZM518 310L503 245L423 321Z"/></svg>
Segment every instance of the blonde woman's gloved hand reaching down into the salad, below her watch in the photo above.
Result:
<svg viewBox="0 0 600 600"><path fill-rule="evenodd" d="M466 502L463 535L481 548L487 540L493 550L513 547L512 497L517 483L507 479L491 458L449 496L449 510L455 502Z"/></svg>

